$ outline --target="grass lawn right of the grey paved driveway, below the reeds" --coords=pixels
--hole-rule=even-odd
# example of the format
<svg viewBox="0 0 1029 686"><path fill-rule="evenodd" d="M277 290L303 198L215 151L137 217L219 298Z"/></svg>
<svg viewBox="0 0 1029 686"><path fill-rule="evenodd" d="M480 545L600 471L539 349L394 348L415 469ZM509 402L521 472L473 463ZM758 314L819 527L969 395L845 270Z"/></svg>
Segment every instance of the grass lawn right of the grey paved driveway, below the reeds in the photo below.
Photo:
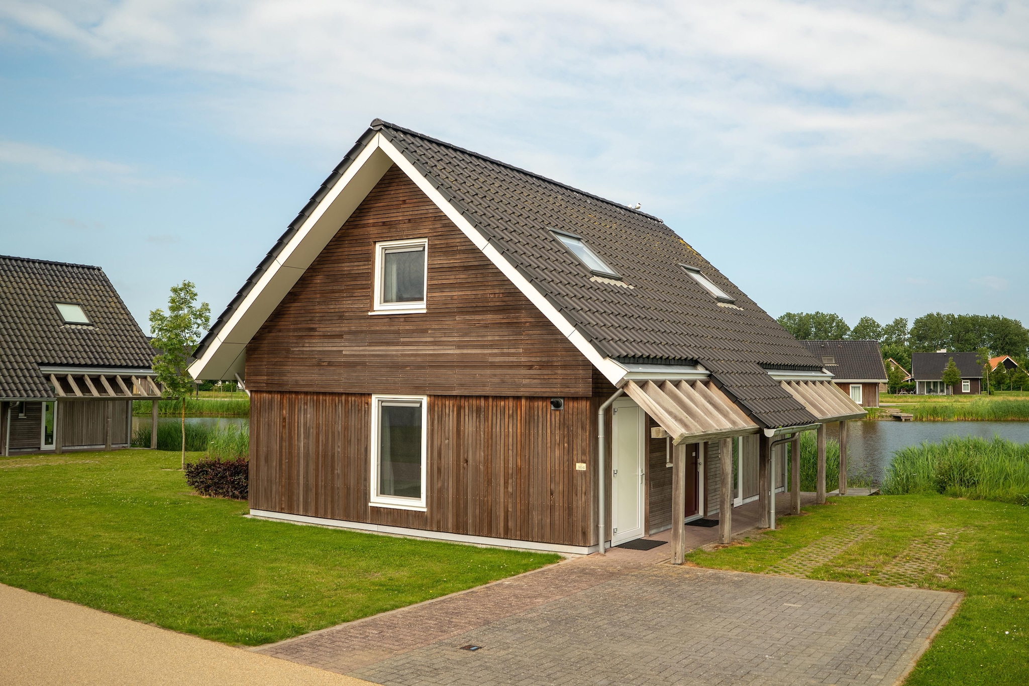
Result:
<svg viewBox="0 0 1029 686"><path fill-rule="evenodd" d="M1029 507L917 495L833 498L805 512L780 518L780 529L743 545L698 550L688 559L702 567L762 572L823 536L874 525L871 537L809 577L882 583L884 568L913 540L961 530L941 567L920 585L962 590L966 597L907 684L1029 684Z"/></svg>

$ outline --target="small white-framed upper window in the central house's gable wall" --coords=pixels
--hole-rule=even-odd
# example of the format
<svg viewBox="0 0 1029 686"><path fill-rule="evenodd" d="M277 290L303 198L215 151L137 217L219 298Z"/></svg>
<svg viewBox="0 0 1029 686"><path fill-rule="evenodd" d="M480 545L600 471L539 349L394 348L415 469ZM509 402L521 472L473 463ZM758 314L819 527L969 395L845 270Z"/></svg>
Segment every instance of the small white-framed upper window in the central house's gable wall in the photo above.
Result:
<svg viewBox="0 0 1029 686"><path fill-rule="evenodd" d="M428 241L376 244L375 314L425 312Z"/></svg>

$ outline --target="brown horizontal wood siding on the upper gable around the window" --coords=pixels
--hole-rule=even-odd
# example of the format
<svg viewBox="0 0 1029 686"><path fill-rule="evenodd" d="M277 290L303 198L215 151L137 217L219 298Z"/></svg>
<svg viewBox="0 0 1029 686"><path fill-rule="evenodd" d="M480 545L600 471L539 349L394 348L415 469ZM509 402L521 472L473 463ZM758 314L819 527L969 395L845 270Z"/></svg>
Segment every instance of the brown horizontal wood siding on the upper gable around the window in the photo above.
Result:
<svg viewBox="0 0 1029 686"><path fill-rule="evenodd" d="M375 244L401 239L428 240L427 312L369 315ZM247 346L246 382L256 391L589 397L592 369L394 167Z"/></svg>

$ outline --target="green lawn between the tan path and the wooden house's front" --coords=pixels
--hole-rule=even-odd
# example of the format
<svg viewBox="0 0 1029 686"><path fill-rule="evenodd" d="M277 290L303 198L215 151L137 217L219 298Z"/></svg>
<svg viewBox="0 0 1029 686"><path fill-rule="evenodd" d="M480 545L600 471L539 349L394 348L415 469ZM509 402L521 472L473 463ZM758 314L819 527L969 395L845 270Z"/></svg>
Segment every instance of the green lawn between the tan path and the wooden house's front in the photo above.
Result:
<svg viewBox="0 0 1029 686"><path fill-rule="evenodd" d="M559 559L249 519L189 493L178 466L151 450L0 458L0 582L259 645Z"/></svg>

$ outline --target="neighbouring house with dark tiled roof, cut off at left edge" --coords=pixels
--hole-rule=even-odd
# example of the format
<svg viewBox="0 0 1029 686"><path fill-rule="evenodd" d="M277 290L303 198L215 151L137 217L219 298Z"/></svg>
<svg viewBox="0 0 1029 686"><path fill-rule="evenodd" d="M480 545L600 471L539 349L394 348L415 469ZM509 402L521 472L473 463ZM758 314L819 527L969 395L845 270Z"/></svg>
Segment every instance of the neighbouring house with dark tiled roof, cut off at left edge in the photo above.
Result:
<svg viewBox="0 0 1029 686"><path fill-rule="evenodd" d="M100 267L0 256L0 339L5 456L128 447L132 401L161 395L153 350Z"/></svg>

